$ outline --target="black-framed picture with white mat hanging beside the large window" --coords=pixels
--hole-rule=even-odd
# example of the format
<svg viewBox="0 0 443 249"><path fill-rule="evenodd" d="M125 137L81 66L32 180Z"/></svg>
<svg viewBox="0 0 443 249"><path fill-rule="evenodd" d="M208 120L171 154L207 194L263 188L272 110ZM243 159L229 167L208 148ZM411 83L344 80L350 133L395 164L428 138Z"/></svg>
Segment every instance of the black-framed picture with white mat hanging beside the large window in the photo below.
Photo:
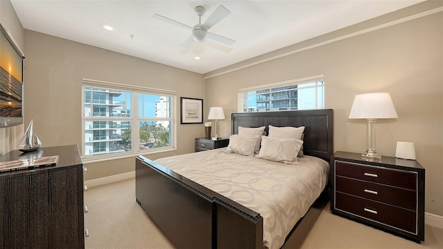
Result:
<svg viewBox="0 0 443 249"><path fill-rule="evenodd" d="M180 123L203 123L203 99L181 97Z"/></svg>

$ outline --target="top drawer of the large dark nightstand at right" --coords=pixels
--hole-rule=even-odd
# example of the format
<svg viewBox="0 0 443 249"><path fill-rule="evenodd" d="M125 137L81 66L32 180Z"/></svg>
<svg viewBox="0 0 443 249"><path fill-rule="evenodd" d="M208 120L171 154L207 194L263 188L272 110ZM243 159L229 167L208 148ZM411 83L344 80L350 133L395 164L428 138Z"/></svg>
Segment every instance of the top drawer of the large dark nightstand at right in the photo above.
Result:
<svg viewBox="0 0 443 249"><path fill-rule="evenodd" d="M417 174L402 170L335 161L336 175L417 190Z"/></svg>

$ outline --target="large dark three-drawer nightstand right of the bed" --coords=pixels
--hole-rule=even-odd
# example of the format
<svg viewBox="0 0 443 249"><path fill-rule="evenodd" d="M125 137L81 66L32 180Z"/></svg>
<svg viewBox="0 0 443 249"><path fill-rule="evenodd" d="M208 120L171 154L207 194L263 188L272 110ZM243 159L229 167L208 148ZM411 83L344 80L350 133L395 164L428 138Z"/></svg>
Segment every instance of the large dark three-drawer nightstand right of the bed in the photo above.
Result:
<svg viewBox="0 0 443 249"><path fill-rule="evenodd" d="M332 213L424 241L424 168L417 161L338 151L331 166Z"/></svg>

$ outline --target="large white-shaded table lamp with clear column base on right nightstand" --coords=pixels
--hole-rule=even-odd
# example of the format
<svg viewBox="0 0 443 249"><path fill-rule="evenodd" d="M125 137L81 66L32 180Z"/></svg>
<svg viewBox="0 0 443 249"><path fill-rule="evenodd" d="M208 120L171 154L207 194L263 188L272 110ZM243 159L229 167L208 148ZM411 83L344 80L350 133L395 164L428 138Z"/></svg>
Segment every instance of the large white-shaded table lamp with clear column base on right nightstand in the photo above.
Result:
<svg viewBox="0 0 443 249"><path fill-rule="evenodd" d="M374 123L377 119L396 119L394 103L387 92L374 92L356 95L352 103L349 119L368 119L368 132L364 158L381 159L375 150Z"/></svg>

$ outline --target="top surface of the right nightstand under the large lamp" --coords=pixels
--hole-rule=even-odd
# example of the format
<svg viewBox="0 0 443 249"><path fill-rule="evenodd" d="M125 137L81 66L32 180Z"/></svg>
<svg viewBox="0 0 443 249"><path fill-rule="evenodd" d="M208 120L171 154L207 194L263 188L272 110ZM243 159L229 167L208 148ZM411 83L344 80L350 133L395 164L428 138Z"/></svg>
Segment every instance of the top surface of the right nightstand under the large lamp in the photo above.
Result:
<svg viewBox="0 0 443 249"><path fill-rule="evenodd" d="M364 162L369 162L373 165L390 165L390 166L423 169L423 166L420 165L420 163L415 160L406 160L406 159L399 159L396 157L386 157L386 156L381 156L381 159L366 159L361 157L361 153L354 153L354 152L336 151L334 153L334 159L343 159L346 161L354 161L356 163L364 161Z"/></svg>

